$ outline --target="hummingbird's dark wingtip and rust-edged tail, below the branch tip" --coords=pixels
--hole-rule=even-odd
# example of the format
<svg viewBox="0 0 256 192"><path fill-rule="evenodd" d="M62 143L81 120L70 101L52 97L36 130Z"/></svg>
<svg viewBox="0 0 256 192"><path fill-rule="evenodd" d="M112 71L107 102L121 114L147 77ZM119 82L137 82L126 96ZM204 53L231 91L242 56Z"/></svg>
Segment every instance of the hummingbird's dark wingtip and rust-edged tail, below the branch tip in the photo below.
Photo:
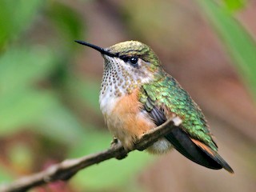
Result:
<svg viewBox="0 0 256 192"><path fill-rule="evenodd" d="M178 152L189 158L191 161L210 169L219 170L224 168L230 173L234 173L225 160L210 147L198 140L191 139L182 129L175 127L166 139L174 146Z"/></svg>

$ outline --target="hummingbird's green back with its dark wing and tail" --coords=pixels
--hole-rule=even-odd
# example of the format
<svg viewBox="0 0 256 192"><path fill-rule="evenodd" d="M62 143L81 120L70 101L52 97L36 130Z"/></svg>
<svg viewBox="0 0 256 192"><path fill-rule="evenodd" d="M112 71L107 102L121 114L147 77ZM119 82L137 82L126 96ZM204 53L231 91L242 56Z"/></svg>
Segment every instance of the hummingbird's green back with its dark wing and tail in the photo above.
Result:
<svg viewBox="0 0 256 192"><path fill-rule="evenodd" d="M166 122L170 114L182 118L182 126L174 128L166 135L166 139L193 162L210 169L223 167L233 173L231 167L217 153L217 146L198 106L174 78L169 77L163 81L142 86L140 101L157 126Z"/></svg>

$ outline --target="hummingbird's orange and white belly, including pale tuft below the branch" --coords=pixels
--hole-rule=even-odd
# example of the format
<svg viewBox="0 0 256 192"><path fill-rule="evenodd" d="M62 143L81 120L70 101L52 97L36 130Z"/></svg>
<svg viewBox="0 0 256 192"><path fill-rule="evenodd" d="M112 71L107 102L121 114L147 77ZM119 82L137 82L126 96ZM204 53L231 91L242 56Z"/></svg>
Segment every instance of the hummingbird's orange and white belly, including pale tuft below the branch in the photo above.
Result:
<svg viewBox="0 0 256 192"><path fill-rule="evenodd" d="M150 116L143 112L136 92L119 98L102 97L100 106L110 133L128 150L133 148L134 142L142 134L156 127ZM153 154L162 154L170 148L170 142L161 138L147 150Z"/></svg>

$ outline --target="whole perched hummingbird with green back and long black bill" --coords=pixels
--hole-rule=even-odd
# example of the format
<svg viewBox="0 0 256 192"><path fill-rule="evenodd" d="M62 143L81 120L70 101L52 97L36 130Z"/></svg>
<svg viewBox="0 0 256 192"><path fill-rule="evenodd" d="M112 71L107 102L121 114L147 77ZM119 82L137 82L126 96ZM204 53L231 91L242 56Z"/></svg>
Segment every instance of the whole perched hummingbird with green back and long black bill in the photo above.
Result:
<svg viewBox="0 0 256 192"><path fill-rule="evenodd" d="M174 148L201 166L234 173L218 154L202 110L178 81L166 73L150 46L126 41L102 48L75 42L98 50L104 58L100 109L110 133L126 150L132 149L142 134L178 116L182 125L146 150L166 154Z"/></svg>

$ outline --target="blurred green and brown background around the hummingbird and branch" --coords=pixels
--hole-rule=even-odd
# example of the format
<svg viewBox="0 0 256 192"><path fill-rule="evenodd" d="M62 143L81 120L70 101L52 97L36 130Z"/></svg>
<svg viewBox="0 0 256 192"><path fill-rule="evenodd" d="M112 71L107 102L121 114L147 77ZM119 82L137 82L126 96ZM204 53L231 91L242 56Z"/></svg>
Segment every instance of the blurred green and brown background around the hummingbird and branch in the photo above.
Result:
<svg viewBox="0 0 256 192"><path fill-rule="evenodd" d="M256 2L0 1L0 185L110 146L98 105L102 58L74 43L150 45L206 114L235 174L177 151L132 152L31 191L256 189Z"/></svg>

